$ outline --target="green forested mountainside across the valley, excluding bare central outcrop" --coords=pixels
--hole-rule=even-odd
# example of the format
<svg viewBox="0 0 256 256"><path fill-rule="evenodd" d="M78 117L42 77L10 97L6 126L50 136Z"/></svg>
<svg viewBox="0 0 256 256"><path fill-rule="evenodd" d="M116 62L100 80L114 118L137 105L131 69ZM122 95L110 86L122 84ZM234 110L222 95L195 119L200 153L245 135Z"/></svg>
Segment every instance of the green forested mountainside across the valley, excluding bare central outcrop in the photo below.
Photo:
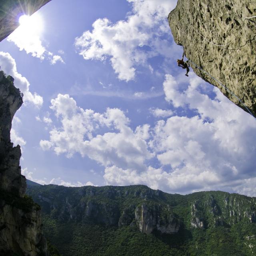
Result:
<svg viewBox="0 0 256 256"><path fill-rule="evenodd" d="M182 196L139 185L45 185L29 187L28 194L42 206L44 234L63 256L256 255L255 198L220 191ZM135 212L142 205L150 212L146 224L152 218L167 225L171 215L179 231L140 232Z"/></svg>

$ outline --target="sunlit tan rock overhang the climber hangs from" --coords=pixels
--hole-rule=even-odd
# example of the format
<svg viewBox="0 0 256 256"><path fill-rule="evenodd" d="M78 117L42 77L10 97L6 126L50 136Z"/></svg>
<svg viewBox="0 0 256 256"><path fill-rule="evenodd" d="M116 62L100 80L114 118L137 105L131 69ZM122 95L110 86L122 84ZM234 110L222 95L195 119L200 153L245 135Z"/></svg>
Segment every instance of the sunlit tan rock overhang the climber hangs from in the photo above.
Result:
<svg viewBox="0 0 256 256"><path fill-rule="evenodd" d="M178 0L168 16L176 44L185 55L236 94L256 116L256 15L251 0ZM213 42L215 46L207 42ZM236 37L237 36L237 37ZM217 86L236 105L246 108L228 90L198 68L194 72ZM247 111L248 112L248 111Z"/></svg>

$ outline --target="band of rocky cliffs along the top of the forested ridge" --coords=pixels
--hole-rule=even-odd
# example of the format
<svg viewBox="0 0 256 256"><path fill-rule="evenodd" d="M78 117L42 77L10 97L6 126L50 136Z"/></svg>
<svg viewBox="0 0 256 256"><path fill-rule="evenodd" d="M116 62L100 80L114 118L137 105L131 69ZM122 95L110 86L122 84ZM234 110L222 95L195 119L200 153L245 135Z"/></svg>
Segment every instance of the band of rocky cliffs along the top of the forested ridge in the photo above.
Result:
<svg viewBox="0 0 256 256"><path fill-rule="evenodd" d="M207 229L256 223L256 198L226 192L168 194L146 186L67 188L29 186L27 193L45 216L60 223L137 226L145 234L174 234L181 228Z"/></svg>

